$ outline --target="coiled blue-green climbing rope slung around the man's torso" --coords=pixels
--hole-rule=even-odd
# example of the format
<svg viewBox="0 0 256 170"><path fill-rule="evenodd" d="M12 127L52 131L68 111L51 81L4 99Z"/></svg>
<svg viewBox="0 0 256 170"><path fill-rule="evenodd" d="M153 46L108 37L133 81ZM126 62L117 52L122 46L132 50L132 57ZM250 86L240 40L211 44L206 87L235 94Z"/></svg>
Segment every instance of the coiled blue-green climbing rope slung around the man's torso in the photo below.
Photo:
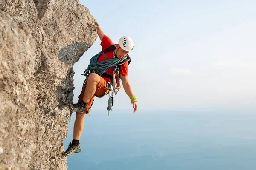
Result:
<svg viewBox="0 0 256 170"><path fill-rule="evenodd" d="M123 59L114 58L114 59L108 59L105 61L97 62L101 54L102 52L99 52L98 54L96 54L90 59L90 64L88 65L88 68L84 71L84 74L81 74L81 75L88 77L89 74L93 72L93 70L96 74L102 75L103 73L108 71L109 68L113 66L122 65L131 59L130 57L129 59L127 59L127 56L125 56ZM125 59L127 59L127 61L123 62Z"/></svg>

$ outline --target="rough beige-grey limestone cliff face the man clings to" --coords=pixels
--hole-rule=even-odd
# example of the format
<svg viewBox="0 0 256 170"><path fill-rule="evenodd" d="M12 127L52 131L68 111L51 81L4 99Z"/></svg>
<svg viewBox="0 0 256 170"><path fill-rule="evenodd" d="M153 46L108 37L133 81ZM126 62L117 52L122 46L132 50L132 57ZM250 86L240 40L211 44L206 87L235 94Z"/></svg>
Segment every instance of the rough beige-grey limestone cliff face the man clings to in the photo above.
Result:
<svg viewBox="0 0 256 170"><path fill-rule="evenodd" d="M97 38L78 0L0 1L0 170L65 170L73 64Z"/></svg>

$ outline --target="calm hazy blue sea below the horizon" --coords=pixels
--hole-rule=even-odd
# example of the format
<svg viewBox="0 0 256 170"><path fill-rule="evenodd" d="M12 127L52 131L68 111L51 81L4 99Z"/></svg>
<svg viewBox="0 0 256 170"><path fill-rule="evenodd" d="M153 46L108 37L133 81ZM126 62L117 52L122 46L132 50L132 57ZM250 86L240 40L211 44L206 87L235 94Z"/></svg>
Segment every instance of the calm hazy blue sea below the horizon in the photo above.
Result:
<svg viewBox="0 0 256 170"><path fill-rule="evenodd" d="M256 170L256 114L94 112L80 145L68 170Z"/></svg>

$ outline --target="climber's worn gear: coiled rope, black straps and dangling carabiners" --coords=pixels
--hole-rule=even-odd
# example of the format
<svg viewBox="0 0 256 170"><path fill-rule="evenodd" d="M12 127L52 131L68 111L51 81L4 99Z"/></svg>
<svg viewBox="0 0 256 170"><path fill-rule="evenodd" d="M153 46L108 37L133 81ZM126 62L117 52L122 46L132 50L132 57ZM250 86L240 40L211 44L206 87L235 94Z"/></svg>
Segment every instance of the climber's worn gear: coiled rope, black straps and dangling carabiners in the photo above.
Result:
<svg viewBox="0 0 256 170"><path fill-rule="evenodd" d="M128 54L123 59L119 59L119 58L115 57L114 54L113 54L112 59L107 59L107 57L105 56L105 53L114 51L115 49L116 49L116 45L111 45L109 48L107 48L104 51L101 51L98 54L96 54L95 56L93 56L90 59L90 64L88 65L87 69L84 71L84 74L81 74L86 77L82 88L85 87L85 84L86 84L85 82L87 81L87 78L89 77L89 75L91 73L96 73L102 77L111 79L111 82L107 83L106 93L105 93L105 94L108 94L108 96L109 96L108 107L107 107L108 117L109 117L109 111L112 111L112 106L114 103L113 94L116 95L117 92L119 91L119 89L121 88L120 87L120 75L119 75L120 66L126 62L128 62L128 64L130 64L130 62L131 62L131 57ZM103 55L106 60L97 62L101 55ZM106 71L108 71L109 68L113 68L113 76L105 73ZM112 93L111 93L111 91L112 91Z"/></svg>

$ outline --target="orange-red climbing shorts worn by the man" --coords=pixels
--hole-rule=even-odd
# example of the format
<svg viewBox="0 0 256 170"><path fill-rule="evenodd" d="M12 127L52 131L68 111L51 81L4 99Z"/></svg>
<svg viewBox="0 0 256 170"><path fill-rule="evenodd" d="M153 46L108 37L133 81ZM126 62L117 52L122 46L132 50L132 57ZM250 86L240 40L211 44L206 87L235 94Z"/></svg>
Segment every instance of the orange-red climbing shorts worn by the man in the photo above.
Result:
<svg viewBox="0 0 256 170"><path fill-rule="evenodd" d="M84 97L84 92L85 92L85 88L86 88L86 84L87 84L87 81L84 82L84 85L82 88L82 91L80 93L80 95L78 96L78 102L81 102L83 97ZM91 98L89 100L89 102L87 102L87 106L84 110L84 113L85 114L88 114L89 113L89 109L92 107L93 105L93 101L94 101L94 97L103 97L105 96L106 94L108 94L107 90L106 90L106 87L107 87L107 83L106 83L106 80L103 79L102 77L100 77L100 81L99 81L99 84L97 85L96 87L96 92L93 96L93 98ZM106 93L107 92L107 93Z"/></svg>

